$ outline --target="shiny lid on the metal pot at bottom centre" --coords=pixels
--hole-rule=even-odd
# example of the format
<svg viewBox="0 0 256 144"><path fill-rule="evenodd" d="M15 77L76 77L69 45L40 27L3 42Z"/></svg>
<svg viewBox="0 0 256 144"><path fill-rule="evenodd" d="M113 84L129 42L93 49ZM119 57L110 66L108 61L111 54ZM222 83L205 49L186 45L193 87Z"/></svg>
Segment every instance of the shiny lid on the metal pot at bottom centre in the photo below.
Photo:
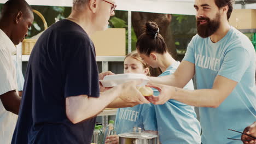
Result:
<svg viewBox="0 0 256 144"><path fill-rule="evenodd" d="M119 134L119 137L132 138L132 139L153 139L158 137L157 135L148 134L148 133L124 133Z"/></svg>

